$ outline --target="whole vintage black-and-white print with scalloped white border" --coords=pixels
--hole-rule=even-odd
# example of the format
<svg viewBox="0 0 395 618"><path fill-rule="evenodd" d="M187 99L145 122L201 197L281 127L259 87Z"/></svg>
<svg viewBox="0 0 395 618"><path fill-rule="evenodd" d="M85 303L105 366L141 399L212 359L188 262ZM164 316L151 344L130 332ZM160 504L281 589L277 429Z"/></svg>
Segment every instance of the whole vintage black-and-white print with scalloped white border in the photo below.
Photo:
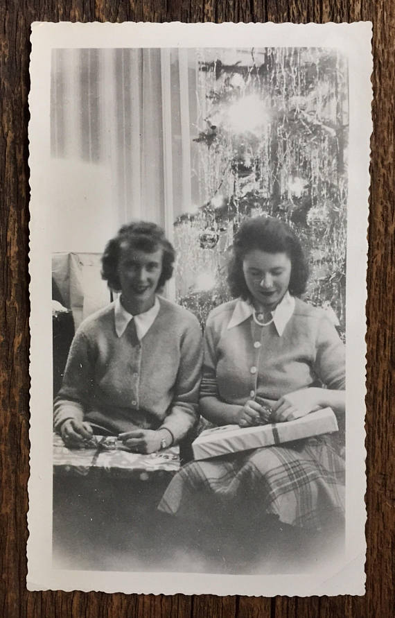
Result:
<svg viewBox="0 0 395 618"><path fill-rule="evenodd" d="M362 594L371 29L152 26L33 26L28 586Z"/></svg>

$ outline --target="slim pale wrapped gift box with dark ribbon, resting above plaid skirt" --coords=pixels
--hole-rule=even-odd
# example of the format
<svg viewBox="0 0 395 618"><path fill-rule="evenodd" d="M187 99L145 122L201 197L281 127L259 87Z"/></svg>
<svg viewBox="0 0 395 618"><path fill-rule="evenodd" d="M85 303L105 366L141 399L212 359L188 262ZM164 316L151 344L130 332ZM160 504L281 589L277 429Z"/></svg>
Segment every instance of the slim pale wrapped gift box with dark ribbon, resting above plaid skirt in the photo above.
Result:
<svg viewBox="0 0 395 618"><path fill-rule="evenodd" d="M331 408L317 410L296 420L258 427L224 425L202 431L192 444L193 457L195 459L218 457L300 438L330 434L337 429L337 420Z"/></svg>

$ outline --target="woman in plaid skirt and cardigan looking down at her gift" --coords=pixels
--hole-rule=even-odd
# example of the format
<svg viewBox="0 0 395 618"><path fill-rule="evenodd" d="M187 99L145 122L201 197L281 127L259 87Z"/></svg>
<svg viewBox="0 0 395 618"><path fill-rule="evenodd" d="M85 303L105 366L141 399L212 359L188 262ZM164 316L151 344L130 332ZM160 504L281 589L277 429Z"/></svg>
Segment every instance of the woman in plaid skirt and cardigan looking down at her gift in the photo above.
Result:
<svg viewBox="0 0 395 618"><path fill-rule="evenodd" d="M248 427L331 406L344 414L344 345L323 309L299 297L308 265L277 218L240 225L229 264L234 300L207 320L200 412ZM331 437L295 440L184 466L159 506L166 513L257 530L265 516L304 529L341 522L344 461ZM225 523L226 522L226 523Z"/></svg>

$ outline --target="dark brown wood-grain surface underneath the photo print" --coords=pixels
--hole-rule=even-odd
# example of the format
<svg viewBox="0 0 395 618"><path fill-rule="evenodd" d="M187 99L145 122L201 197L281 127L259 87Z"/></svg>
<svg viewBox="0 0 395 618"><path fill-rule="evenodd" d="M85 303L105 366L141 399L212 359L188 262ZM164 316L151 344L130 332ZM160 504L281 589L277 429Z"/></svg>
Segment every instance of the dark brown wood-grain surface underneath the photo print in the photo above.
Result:
<svg viewBox="0 0 395 618"><path fill-rule="evenodd" d="M0 613L4 617L364 617L393 615L393 0L8 0L1 2ZM26 592L28 508L28 62L30 23L273 21L374 24L374 135L367 304L367 594L276 599ZM352 230L351 230L352 231ZM391 402L392 398L392 402ZM392 404L392 410L391 410Z"/></svg>

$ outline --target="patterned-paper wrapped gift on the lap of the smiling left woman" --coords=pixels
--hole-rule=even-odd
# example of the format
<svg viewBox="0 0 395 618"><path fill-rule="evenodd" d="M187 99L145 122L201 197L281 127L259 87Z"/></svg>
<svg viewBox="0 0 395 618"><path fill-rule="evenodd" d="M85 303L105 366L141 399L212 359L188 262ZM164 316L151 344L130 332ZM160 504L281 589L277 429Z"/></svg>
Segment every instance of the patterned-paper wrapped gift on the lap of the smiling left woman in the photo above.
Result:
<svg viewBox="0 0 395 618"><path fill-rule="evenodd" d="M141 455L121 447L116 440L115 447L105 447L105 438L95 436L96 447L70 449L60 436L53 436L53 470L55 474L77 474L103 472L116 477L137 477L148 480L151 474L175 474L179 470L179 447L171 447L159 453Z"/></svg>

